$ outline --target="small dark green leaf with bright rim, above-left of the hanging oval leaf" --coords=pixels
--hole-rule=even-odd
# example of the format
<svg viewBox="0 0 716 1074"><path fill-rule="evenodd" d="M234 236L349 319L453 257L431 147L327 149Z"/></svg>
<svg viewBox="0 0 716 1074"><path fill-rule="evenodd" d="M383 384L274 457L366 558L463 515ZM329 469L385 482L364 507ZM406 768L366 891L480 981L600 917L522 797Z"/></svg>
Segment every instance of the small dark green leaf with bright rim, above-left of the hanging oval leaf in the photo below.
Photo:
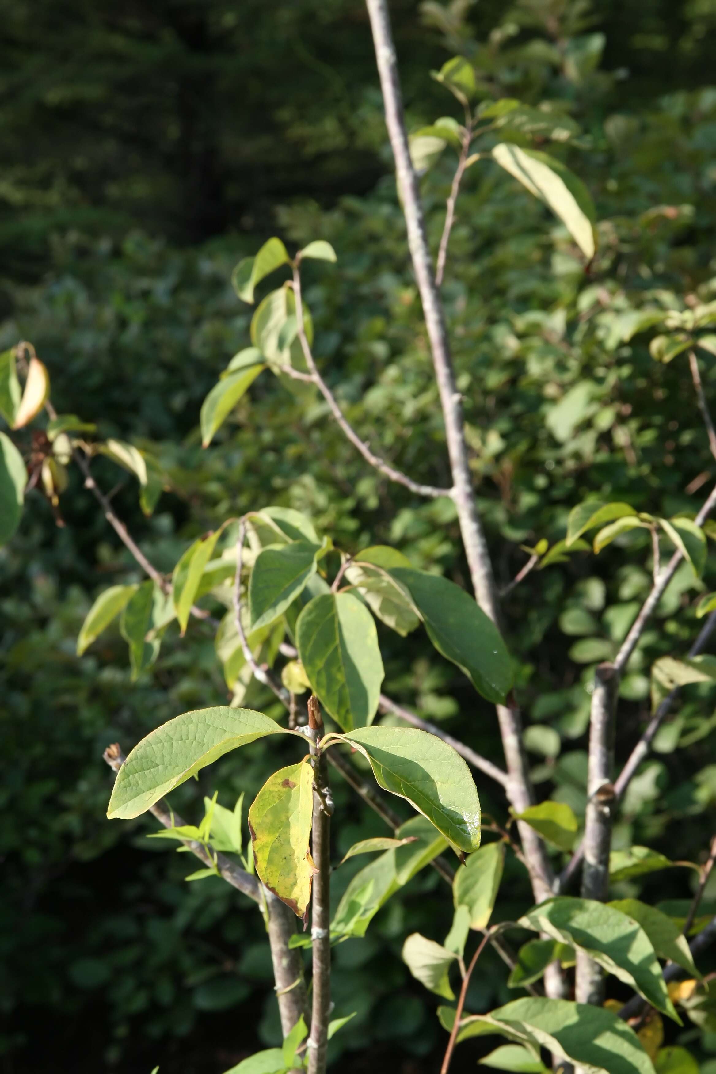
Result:
<svg viewBox="0 0 716 1074"><path fill-rule="evenodd" d="M251 629L268 626L298 596L327 546L293 541L269 545L255 558L249 581Z"/></svg>

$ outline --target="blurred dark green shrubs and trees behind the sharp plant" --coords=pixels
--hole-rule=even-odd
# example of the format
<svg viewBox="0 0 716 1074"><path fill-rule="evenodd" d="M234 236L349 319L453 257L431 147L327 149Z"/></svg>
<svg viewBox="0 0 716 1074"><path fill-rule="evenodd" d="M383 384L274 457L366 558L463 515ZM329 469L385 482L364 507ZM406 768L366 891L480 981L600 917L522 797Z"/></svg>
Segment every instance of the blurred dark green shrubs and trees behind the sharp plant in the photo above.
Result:
<svg viewBox="0 0 716 1074"><path fill-rule="evenodd" d="M564 536L588 492L667 516L698 509L714 463L688 371L656 364L640 338L623 345L618 325L644 295L716 295L716 0L391 6L410 126L457 115L429 70L469 50L500 96L560 102L580 124L580 145L560 151L601 221L585 276L566 232L515 183L489 165L465 182L443 290L499 581L524 564L522 543ZM201 449L201 402L247 345L231 268L271 234L322 237L338 265L307 266L305 287L341 405L403 469L448 480L362 0L1 0L0 58L0 349L31 339L60 412L158 454L171 491L151 519L129 477L115 488L109 462L93 467L155 563L171 569L228 514L279 503L348 551L391 542L465 583L452 504L417 504L379 480L321 406L306 411L277 381L258 382ZM436 244L450 180L445 155L424 179ZM193 867L146 840L146 819L106 822L101 759L111 741L128 750L179 712L225 702L214 640L201 624L182 641L171 628L136 683L116 630L77 658L94 595L140 576L76 474L63 526L40 494L29 507L0 552L0 1070L216 1074L280 1037L259 919L218 880L187 885ZM585 684L648 590L648 555L646 540L625 537L598 560L534 572L507 604L538 790L578 813ZM643 669L687 648L705 589L713 562L704 583L683 567L644 635L623 684L620 756L648 712ZM452 666L415 637L385 633L381 649L390 694L500 758L494 714ZM251 703L272 707L259 687ZM705 846L712 711L697 691L667 725L629 789L617 846L692 860ZM258 789L269 749L210 769L223 804ZM503 818L495 788L478 785ZM207 788L185 785L177 808L195 819ZM336 854L383 833L346 788L337 798ZM529 901L510 869L506 918ZM675 912L688 875L620 890ZM434 1069L437 1019L399 952L408 931L444 935L439 884L421 873L365 940L336 948L336 1013L357 1016L334 1055L351 1071ZM471 1010L506 1001L503 979L486 953ZM716 1033L684 1033L713 1074Z"/></svg>

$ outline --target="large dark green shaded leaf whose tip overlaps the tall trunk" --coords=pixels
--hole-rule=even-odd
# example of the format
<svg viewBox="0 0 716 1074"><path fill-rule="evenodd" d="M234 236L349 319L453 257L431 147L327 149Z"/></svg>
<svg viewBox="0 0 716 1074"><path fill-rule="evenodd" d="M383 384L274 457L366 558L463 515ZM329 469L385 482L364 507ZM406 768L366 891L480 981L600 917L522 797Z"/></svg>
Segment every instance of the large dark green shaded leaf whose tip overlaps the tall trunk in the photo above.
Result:
<svg viewBox="0 0 716 1074"><path fill-rule="evenodd" d="M512 661L499 630L459 585L424 570L392 567L406 586L437 651L456 664L488 701L505 701L512 687Z"/></svg>

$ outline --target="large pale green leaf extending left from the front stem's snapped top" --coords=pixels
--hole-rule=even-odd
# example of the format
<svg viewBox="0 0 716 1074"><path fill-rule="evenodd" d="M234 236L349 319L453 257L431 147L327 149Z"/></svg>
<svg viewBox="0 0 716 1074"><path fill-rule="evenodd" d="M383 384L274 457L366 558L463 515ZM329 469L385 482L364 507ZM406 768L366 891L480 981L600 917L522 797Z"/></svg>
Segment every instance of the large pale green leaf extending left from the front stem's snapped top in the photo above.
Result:
<svg viewBox="0 0 716 1074"><path fill-rule="evenodd" d="M111 819L138 816L162 795L231 750L266 735L297 734L251 709L185 712L134 746L117 773L107 816Z"/></svg>

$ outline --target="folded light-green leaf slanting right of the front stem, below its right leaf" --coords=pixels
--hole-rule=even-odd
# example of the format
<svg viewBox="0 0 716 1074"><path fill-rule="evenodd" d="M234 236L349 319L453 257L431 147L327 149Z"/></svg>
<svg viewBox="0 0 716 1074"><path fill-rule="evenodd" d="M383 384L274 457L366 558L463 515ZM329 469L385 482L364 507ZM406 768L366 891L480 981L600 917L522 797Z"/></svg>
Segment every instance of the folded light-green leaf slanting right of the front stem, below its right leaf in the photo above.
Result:
<svg viewBox="0 0 716 1074"><path fill-rule="evenodd" d="M396 836L398 839L413 837L413 840L410 845L385 851L353 876L331 924L336 935L365 935L371 919L388 899L448 845L435 826L422 816L407 821Z"/></svg>

